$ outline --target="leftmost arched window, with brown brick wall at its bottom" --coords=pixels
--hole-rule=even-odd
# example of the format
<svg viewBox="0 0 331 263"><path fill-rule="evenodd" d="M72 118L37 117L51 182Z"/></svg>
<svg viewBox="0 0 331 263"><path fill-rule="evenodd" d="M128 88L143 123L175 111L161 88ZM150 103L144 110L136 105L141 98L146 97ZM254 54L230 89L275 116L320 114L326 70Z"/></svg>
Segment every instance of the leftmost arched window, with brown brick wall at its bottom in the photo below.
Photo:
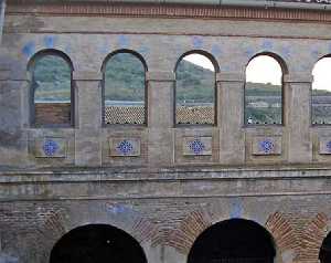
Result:
<svg viewBox="0 0 331 263"><path fill-rule="evenodd" d="M60 51L38 53L29 63L31 124L35 127L70 126L73 114L73 65Z"/></svg>

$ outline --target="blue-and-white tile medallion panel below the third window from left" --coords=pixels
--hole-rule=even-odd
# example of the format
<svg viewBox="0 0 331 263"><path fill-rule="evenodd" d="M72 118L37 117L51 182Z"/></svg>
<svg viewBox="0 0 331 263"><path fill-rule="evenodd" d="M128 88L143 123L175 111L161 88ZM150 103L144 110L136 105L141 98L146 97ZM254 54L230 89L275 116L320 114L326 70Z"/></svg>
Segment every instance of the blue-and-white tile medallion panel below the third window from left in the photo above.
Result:
<svg viewBox="0 0 331 263"><path fill-rule="evenodd" d="M183 139L184 156L211 156L212 137L184 137Z"/></svg>

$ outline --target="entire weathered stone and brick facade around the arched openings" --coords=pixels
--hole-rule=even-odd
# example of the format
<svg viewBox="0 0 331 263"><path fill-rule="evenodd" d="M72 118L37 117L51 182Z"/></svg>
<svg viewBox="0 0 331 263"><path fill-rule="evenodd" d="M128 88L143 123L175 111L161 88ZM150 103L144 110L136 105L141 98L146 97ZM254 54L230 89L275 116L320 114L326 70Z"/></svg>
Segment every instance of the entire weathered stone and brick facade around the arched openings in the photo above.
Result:
<svg viewBox="0 0 331 263"><path fill-rule="evenodd" d="M66 232L105 223L139 241L150 263L185 263L206 228L233 218L273 234L275 262L319 261L331 128L309 116L330 12L35 2L8 2L0 49L0 262L49 262ZM73 63L71 127L30 122L28 65L50 49ZM103 63L122 49L148 66L147 125L103 125ZM192 50L220 65L215 126L174 125L173 70ZM285 69L282 126L244 125L245 67L259 53ZM270 152L257 146L266 139Z"/></svg>

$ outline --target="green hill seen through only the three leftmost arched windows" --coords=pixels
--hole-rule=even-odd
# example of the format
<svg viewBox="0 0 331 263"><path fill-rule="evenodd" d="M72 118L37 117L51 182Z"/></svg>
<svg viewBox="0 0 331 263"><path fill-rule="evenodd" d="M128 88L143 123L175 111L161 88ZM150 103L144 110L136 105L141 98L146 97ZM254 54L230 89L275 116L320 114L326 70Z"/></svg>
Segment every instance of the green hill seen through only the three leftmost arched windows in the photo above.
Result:
<svg viewBox="0 0 331 263"><path fill-rule="evenodd" d="M55 73L55 74L54 74ZM106 91L108 101L143 101L145 70L141 62L130 54L111 57L106 66ZM214 85L214 73L188 61L178 67L179 99L211 102L213 91L205 86ZM70 98L71 69L56 56L41 59L35 64L34 80L36 99L67 101Z"/></svg>

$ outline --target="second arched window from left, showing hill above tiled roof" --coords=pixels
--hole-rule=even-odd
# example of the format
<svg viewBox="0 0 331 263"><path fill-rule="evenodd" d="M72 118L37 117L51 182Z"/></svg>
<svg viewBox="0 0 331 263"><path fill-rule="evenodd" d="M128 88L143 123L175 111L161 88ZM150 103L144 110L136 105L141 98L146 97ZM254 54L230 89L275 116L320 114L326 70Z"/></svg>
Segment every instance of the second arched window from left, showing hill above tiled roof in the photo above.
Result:
<svg viewBox="0 0 331 263"><path fill-rule="evenodd" d="M104 124L147 124L147 65L134 51L110 54L104 72Z"/></svg>

